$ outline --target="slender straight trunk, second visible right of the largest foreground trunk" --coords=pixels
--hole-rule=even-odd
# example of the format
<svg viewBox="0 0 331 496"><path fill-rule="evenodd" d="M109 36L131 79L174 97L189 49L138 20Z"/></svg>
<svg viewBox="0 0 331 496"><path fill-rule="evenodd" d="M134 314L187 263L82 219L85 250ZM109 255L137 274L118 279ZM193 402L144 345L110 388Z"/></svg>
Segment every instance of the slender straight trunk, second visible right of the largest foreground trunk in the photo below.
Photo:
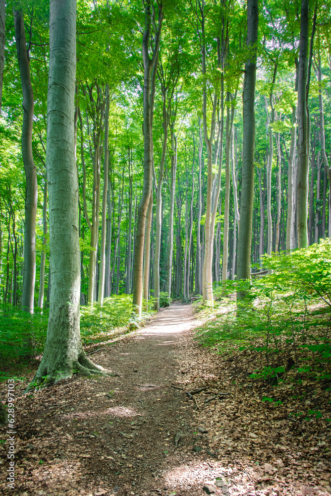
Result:
<svg viewBox="0 0 331 496"><path fill-rule="evenodd" d="M106 276L106 214L108 192L108 137L109 137L109 86L106 84L106 113L105 113L105 151L104 151L104 188L102 194L101 243L100 243L100 277L98 304L103 306Z"/></svg>

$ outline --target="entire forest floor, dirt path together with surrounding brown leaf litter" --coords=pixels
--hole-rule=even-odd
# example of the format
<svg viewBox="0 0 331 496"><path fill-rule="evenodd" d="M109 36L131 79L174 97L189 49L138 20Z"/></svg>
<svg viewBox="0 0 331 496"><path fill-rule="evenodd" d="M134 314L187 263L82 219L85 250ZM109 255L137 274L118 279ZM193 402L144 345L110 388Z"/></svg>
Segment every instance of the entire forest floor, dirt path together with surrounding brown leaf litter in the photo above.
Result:
<svg viewBox="0 0 331 496"><path fill-rule="evenodd" d="M175 303L92 355L118 376L74 376L30 395L22 392L32 377L17 382L15 489L5 482L2 428L0 492L330 494L329 427L314 419L303 429L289 417L298 405L262 402L261 383L248 378L254 356L213 355L194 341L200 323L190 305ZM319 390L307 397L326 400Z"/></svg>

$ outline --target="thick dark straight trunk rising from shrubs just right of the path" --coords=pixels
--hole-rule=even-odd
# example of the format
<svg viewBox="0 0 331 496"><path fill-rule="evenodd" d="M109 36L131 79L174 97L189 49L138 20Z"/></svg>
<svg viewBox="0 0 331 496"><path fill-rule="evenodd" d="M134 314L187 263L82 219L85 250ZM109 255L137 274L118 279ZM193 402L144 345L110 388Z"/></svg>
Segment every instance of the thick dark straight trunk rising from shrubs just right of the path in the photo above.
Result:
<svg viewBox="0 0 331 496"><path fill-rule="evenodd" d="M242 181L240 199L240 229L237 252L237 279L251 277L251 246L254 200L254 145L255 145L255 82L256 49L258 41L259 7L257 0L247 0L247 46L252 57L245 63L243 87L243 144ZM243 298L242 292L237 298Z"/></svg>

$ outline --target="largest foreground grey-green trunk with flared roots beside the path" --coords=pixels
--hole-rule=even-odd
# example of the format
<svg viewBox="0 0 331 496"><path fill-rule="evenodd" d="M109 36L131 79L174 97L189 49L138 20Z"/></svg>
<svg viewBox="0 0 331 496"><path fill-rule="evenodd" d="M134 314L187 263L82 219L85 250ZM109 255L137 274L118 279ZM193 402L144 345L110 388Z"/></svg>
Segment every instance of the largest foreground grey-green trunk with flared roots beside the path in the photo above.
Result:
<svg viewBox="0 0 331 496"><path fill-rule="evenodd" d="M30 388L101 373L85 355L79 332L78 177L74 151L76 1L51 0L46 167L50 204L52 292L45 350Z"/></svg>

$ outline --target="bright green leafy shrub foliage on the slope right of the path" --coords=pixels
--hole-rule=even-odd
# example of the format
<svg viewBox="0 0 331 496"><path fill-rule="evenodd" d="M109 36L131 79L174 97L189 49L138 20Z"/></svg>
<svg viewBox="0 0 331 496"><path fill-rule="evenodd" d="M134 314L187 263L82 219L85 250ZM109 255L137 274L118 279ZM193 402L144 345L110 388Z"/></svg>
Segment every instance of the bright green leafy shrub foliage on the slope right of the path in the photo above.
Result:
<svg viewBox="0 0 331 496"><path fill-rule="evenodd" d="M252 378L280 380L295 369L331 379L331 240L310 248L264 257L269 273L250 285L228 281L227 297L216 302L215 318L198 332L199 341L219 353L254 350L262 368ZM234 291L247 299L233 308ZM211 309L209 309L211 311Z"/></svg>

